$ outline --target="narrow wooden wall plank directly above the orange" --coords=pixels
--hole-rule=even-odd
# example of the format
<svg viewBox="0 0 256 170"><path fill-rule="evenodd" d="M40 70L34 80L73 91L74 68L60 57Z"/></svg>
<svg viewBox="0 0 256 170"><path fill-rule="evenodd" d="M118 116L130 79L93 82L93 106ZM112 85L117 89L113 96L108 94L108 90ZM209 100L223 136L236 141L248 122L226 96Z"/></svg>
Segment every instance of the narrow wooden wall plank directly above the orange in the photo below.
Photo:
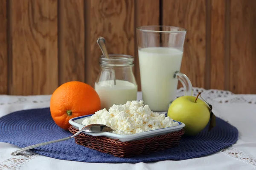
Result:
<svg viewBox="0 0 256 170"><path fill-rule="evenodd" d="M84 82L84 0L59 1L59 85Z"/></svg>

